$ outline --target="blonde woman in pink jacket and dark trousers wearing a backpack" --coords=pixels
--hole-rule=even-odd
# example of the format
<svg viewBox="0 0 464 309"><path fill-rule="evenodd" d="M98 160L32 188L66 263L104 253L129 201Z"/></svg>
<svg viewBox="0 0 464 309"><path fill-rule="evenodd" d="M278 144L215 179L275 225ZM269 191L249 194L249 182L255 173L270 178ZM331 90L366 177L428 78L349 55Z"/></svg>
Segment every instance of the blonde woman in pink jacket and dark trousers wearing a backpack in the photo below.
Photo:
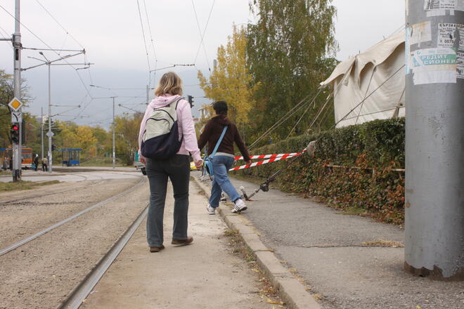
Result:
<svg viewBox="0 0 464 309"><path fill-rule="evenodd" d="M146 173L150 183L150 206L148 207L147 218L147 241L148 246L150 246L150 252L158 252L165 249L163 245L163 216L168 177L172 182L174 191L172 244L191 244L193 242L193 237L187 235L188 183L190 181L189 154L192 155L198 168L202 166L200 150L198 150L195 128L193 126L191 106L181 97L181 78L174 72L167 72L161 77L160 83L155 90L155 95L157 98L152 100L148 105L138 133L140 161L146 164ZM166 112L170 108L175 108L173 115L169 115ZM164 122L153 118L154 111L160 110L165 111L166 118L173 121L176 118L176 129L179 129L178 136L175 136L177 140L174 140L174 143L168 143L168 147L177 144L176 142L179 142L180 147L178 146L179 149L174 150L174 154L169 155L167 158L153 159L143 157L144 153L147 154L148 142L146 143L146 141L149 132L146 131L148 131L148 126L151 128L150 130L157 131L160 129L157 126L162 125ZM154 121L150 121L150 124L147 125L148 120ZM174 131L176 130L172 132ZM143 146L145 146L145 151L143 150Z"/></svg>

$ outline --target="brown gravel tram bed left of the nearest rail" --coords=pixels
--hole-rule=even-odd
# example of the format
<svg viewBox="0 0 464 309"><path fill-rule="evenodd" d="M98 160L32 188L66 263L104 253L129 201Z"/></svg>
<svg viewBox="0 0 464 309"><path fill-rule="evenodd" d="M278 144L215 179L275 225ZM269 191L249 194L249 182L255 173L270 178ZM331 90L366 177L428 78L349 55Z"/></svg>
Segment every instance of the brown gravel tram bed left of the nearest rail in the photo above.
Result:
<svg viewBox="0 0 464 309"><path fill-rule="evenodd" d="M66 195L1 207L2 247L7 239L11 242L15 237L30 235L51 222L63 220L127 190L138 181L105 180ZM0 256L0 308L56 308L147 203L148 185L145 183L127 195ZM8 215L4 216L4 213Z"/></svg>

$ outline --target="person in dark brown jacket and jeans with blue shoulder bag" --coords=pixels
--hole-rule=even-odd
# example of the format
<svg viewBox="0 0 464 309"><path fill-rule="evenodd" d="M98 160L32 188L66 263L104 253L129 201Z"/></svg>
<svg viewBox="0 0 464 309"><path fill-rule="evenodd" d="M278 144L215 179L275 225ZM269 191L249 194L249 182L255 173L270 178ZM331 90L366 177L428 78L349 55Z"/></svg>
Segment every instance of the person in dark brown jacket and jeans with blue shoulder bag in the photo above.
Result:
<svg viewBox="0 0 464 309"><path fill-rule="evenodd" d="M198 148L202 150L202 148L208 144L207 151L208 155L210 155L221 137L224 126L227 126L227 131L224 138L221 140L216 155L212 158L214 178L212 181L210 201L207 204L207 211L210 215L214 215L219 206L221 192L224 191L235 204L232 212L239 213L240 211L246 210L247 205L245 205L245 202L243 202L227 175L228 169L231 168L235 157L233 143L236 143L247 164L251 164L250 155L248 154L243 139L240 137L240 133L238 133L237 126L227 117L227 103L225 101L217 101L214 103L213 108L216 112L216 116L212 117L205 125L205 129L198 140Z"/></svg>

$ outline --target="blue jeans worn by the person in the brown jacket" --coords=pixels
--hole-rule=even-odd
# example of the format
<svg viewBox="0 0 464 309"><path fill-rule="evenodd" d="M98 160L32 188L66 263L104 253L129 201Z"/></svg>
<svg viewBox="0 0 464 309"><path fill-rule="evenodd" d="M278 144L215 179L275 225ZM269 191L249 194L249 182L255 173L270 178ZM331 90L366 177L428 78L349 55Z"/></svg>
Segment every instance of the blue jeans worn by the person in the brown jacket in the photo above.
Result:
<svg viewBox="0 0 464 309"><path fill-rule="evenodd" d="M212 159L214 179L212 181L210 206L213 208L219 206L222 191L226 192L232 202L240 199L240 195L236 188L233 188L231 180L227 176L227 171L231 168L233 161L232 157L226 156L214 156Z"/></svg>

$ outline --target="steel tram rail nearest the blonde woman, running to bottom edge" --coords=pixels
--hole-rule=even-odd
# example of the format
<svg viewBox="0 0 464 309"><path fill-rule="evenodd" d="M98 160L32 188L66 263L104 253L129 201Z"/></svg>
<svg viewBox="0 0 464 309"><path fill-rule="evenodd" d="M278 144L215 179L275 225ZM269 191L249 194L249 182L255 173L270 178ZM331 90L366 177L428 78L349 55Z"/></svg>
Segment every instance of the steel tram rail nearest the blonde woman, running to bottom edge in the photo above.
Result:
<svg viewBox="0 0 464 309"><path fill-rule="evenodd" d="M149 204L148 204L149 205ZM145 209L138 215L136 220L129 226L129 228L124 232L120 239L115 242L115 244L108 250L108 252L101 258L94 268L86 275L84 280L77 284L77 287L70 292L70 295L58 305L58 309L77 309L82 305L82 301L90 294L92 289L96 286L98 281L101 280L103 275L105 275L106 270L110 268L110 265L115 261L117 256L121 253L124 246L131 239L134 232L137 230L138 226L142 223L143 219L148 213L148 205Z"/></svg>

